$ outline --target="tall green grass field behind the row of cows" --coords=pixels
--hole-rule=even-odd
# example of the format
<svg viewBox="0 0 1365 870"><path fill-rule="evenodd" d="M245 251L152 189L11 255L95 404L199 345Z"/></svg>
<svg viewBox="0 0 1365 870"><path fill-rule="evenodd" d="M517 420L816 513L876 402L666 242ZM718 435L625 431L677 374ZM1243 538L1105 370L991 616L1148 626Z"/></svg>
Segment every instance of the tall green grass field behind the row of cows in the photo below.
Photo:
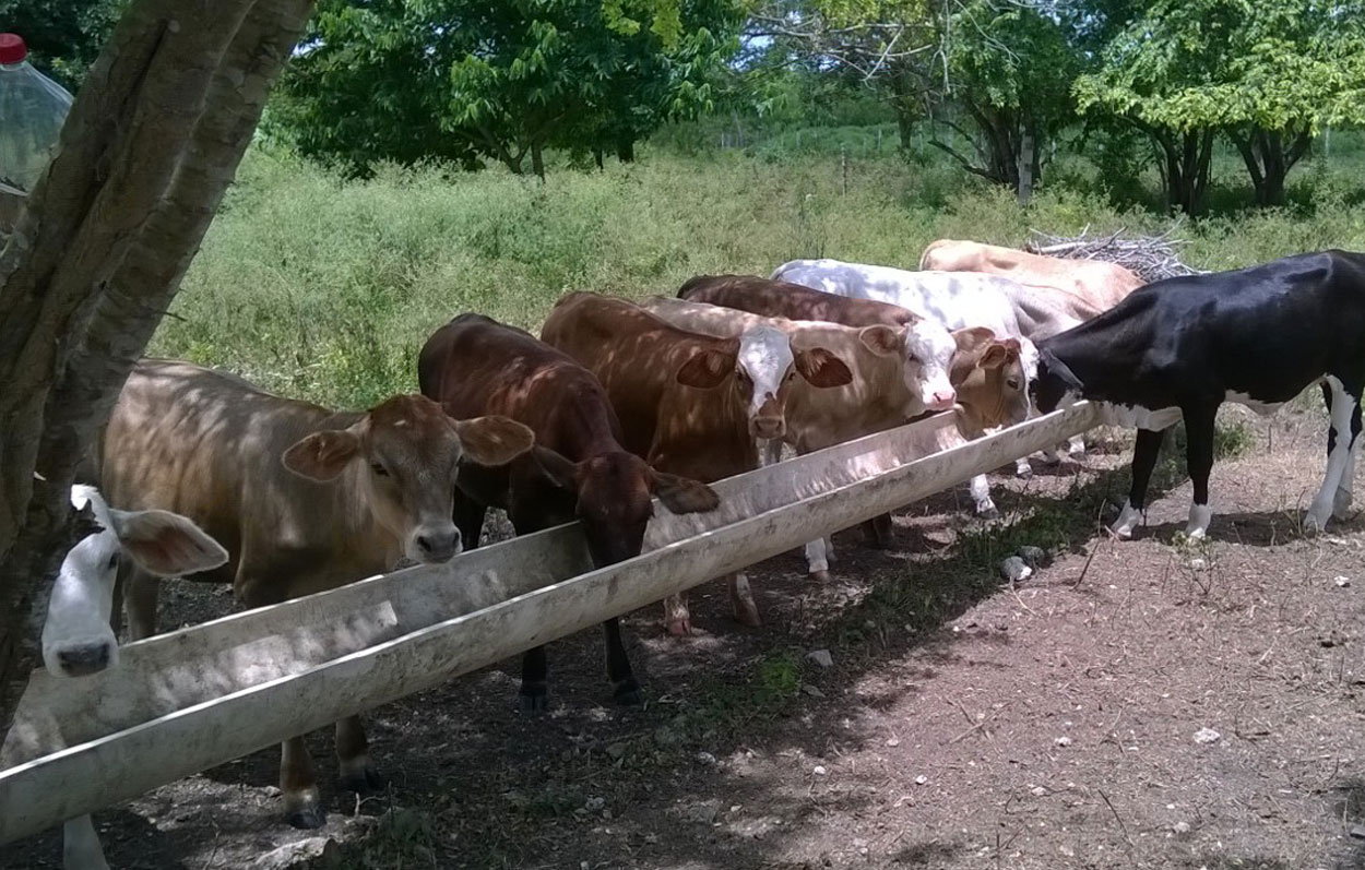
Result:
<svg viewBox="0 0 1365 870"><path fill-rule="evenodd" d="M846 179L845 192L837 153L646 149L637 164L560 170L547 183L441 168L343 181L257 149L152 350L359 408L414 390L422 342L463 311L534 330L572 289L672 293L695 274L767 274L803 256L913 269L943 236L1018 244L1035 228L1155 232L1170 224L1117 209L1103 190L1080 192L1082 184L1044 188L1024 210L927 153L910 162L850 155ZM1365 248L1365 206L1340 173L1297 173L1293 192L1325 207L1186 226L1188 259L1226 269Z"/></svg>

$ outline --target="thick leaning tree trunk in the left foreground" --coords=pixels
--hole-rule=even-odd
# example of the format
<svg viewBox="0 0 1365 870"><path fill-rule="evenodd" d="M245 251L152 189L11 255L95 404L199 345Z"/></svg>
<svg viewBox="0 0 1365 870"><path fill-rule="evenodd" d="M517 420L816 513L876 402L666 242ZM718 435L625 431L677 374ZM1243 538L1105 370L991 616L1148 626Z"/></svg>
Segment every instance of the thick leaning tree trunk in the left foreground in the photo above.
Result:
<svg viewBox="0 0 1365 870"><path fill-rule="evenodd" d="M310 0L134 0L0 254L0 740L37 661L70 485L179 289Z"/></svg>

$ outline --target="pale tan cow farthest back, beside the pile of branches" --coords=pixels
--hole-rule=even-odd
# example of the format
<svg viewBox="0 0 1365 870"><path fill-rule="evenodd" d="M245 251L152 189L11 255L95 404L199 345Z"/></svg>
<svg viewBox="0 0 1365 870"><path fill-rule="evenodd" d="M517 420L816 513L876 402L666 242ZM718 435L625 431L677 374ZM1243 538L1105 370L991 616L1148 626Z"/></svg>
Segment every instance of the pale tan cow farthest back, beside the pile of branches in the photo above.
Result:
<svg viewBox="0 0 1365 870"><path fill-rule="evenodd" d="M1118 263L1043 256L956 239L930 243L920 256L920 271L981 271L1003 275L1022 285L1052 289L1069 297L1052 295L1062 305L1076 305L1076 314L1081 320L1108 311L1144 284L1133 271Z"/></svg>

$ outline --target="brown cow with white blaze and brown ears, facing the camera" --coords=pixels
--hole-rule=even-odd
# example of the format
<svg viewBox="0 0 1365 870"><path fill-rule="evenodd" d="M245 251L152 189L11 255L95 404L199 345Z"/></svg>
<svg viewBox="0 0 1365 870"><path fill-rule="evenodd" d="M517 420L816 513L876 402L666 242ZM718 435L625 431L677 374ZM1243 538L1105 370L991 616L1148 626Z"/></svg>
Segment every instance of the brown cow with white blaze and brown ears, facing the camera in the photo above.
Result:
<svg viewBox="0 0 1365 870"><path fill-rule="evenodd" d="M786 435L785 404L797 379L838 387L853 374L830 350L794 349L771 327L715 338L665 323L622 299L571 293L541 340L598 376L625 447L659 470L713 483L759 466L759 442ZM743 574L733 574L736 619L760 625ZM692 630L684 596L665 601L669 634Z"/></svg>

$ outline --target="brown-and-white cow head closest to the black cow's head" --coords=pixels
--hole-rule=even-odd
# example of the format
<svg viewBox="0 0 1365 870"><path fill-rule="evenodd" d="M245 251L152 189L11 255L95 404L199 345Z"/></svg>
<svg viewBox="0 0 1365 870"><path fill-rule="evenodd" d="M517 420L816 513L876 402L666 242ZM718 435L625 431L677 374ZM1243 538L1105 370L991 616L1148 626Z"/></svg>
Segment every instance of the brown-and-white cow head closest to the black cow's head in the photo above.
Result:
<svg viewBox="0 0 1365 870"><path fill-rule="evenodd" d="M1018 340L999 340L984 327L956 330L953 338L957 401L976 423L990 428L1028 419L1028 379Z"/></svg>

